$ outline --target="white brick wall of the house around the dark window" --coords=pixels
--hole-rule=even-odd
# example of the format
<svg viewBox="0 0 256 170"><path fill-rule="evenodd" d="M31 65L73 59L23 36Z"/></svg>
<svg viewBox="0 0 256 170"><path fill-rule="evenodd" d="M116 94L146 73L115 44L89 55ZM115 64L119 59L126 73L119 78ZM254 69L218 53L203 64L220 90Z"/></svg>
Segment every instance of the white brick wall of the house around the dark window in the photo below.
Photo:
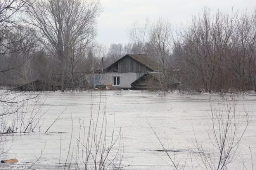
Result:
<svg viewBox="0 0 256 170"><path fill-rule="evenodd" d="M120 85L113 85L113 77L119 76L120 77ZM112 87L116 88L130 88L131 83L137 80L137 74L136 73L104 73L102 74L102 80L101 84L111 84Z"/></svg>

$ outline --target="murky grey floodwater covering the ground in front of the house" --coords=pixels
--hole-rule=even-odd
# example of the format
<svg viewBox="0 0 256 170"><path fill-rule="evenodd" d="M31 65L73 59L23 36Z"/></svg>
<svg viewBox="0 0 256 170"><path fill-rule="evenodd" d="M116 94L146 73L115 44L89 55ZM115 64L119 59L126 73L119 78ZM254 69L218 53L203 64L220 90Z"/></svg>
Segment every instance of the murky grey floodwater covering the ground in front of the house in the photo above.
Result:
<svg viewBox="0 0 256 170"><path fill-rule="evenodd" d="M36 128L33 133L6 136L9 139L7 148L9 146L11 148L4 157L2 156L2 159L17 158L19 163L11 165L13 168L28 168L38 160L32 168L58 169L58 164L64 164L67 160L71 133L70 150L76 153L76 139L79 138L81 129L83 129L81 122L85 122L85 129L89 126L92 103L92 115L95 121L100 100L100 115L103 114L106 104L107 138L111 137L114 127L117 134L121 127L123 138L122 165L130 165L124 169L171 169L171 161L162 151L163 148L156 135L168 149L168 153L171 156L175 154L175 162L181 160L180 165L183 165L184 161L182 160L185 160L190 154L194 168L198 168L194 158L197 152L193 144L194 139L197 138L206 149L211 150L213 148L208 137L211 127L209 100L211 98L212 104L219 107L223 106L224 101L217 94L180 95L180 93L167 93L165 97L162 97L158 93L136 90L106 91L102 94L96 91L49 92L40 93L40 97L42 99L39 103L46 99L43 104L43 111L48 110L40 121L42 124L40 133L39 128ZM252 119L240 141L237 152L239 157L230 164L231 169L242 167L242 161L251 167L250 151L253 155L256 154L256 116L253 112L256 110L256 95L254 93L236 95L235 99L237 113L244 115L248 112ZM33 107L33 103L30 107ZM65 112L60 116L60 119L50 127L48 133L45 133L64 110ZM241 127L243 128L244 124ZM191 166L189 159L191 159L190 156L188 156L185 165L187 168ZM256 162L256 156L253 156L253 162ZM4 168L5 165L2 167Z"/></svg>

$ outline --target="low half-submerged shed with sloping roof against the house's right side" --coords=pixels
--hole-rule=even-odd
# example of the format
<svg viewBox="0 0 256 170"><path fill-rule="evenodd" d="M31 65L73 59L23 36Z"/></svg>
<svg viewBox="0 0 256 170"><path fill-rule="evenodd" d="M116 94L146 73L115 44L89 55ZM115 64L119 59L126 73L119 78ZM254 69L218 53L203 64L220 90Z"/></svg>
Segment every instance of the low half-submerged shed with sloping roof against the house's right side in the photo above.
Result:
<svg viewBox="0 0 256 170"><path fill-rule="evenodd" d="M140 78L131 83L133 90L162 90L161 84L164 83L164 74L162 72L147 72ZM176 89L180 82L167 74L168 89Z"/></svg>

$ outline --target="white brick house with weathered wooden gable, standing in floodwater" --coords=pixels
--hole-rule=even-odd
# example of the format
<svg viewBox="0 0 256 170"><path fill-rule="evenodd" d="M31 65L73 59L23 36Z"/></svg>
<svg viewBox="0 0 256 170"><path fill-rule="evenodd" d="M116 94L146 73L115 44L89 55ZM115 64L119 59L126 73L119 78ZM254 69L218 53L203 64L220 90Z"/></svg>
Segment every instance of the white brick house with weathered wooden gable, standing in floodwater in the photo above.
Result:
<svg viewBox="0 0 256 170"><path fill-rule="evenodd" d="M102 74L101 84L112 88L131 88L131 83L148 71L158 71L157 63L144 54L126 54Z"/></svg>

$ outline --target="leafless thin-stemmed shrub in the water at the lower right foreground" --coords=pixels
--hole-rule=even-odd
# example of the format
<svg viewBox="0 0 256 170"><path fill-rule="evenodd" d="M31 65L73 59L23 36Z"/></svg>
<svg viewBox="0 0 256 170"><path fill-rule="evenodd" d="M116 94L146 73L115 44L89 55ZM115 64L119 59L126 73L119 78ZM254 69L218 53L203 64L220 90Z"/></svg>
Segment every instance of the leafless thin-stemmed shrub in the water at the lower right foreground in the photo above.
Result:
<svg viewBox="0 0 256 170"><path fill-rule="evenodd" d="M227 97L227 99L223 101L223 105L218 104L218 106L214 106L210 99L211 112L209 116L211 121L208 137L211 145L207 147L203 146L201 141L196 138L196 132L194 131L194 146L197 151L194 152L194 158L191 158L192 167L188 169L193 169L193 162L197 162L198 167L203 170L227 170L228 165L234 162L238 157L239 144L251 122L252 115L250 116L248 112L244 112L244 114L238 113L235 106L236 99L234 96L230 96L230 98ZM168 156L173 169L184 169L184 167L187 166L188 156L185 160L176 160L175 162L175 151L172 157L156 131L154 131L150 124L149 126L163 148L162 151Z"/></svg>

